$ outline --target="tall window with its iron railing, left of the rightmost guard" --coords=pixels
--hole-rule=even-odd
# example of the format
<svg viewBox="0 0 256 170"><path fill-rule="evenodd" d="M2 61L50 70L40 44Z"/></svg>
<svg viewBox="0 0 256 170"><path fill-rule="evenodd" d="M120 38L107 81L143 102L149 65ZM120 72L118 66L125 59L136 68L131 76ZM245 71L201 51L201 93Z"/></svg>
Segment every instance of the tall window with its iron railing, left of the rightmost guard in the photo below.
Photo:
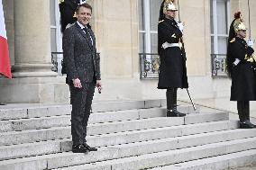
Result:
<svg viewBox="0 0 256 170"><path fill-rule="evenodd" d="M230 0L211 0L211 53L213 76L225 76L230 25Z"/></svg>

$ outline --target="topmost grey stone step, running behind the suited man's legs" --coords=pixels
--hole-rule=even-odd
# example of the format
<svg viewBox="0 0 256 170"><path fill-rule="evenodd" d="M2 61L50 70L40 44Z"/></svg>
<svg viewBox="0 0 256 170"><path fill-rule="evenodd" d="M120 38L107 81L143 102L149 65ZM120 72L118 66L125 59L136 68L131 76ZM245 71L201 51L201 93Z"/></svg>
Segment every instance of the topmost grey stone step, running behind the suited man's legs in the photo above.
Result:
<svg viewBox="0 0 256 170"><path fill-rule="evenodd" d="M114 112L123 110L148 109L165 105L162 100L148 101L113 101L105 103L93 103L93 112ZM179 107L183 112L195 112L191 106ZM69 115L71 105L47 105L47 104L7 104L0 106L0 121L38 118L47 116ZM197 111L198 112L198 111Z"/></svg>

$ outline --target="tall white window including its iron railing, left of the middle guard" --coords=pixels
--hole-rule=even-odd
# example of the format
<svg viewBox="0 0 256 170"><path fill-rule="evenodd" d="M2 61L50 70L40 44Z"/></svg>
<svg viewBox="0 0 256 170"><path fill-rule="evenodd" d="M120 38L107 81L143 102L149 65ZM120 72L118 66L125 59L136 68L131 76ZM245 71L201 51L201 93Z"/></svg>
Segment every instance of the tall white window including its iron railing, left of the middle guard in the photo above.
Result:
<svg viewBox="0 0 256 170"><path fill-rule="evenodd" d="M158 22L162 0L139 0L141 78L158 78Z"/></svg>

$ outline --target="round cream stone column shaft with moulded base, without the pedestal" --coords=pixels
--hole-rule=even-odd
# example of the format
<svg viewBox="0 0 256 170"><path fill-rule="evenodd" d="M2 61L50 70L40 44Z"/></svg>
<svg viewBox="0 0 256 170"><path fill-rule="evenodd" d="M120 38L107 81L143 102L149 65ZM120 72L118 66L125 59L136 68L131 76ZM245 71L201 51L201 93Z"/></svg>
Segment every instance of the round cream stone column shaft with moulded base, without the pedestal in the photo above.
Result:
<svg viewBox="0 0 256 170"><path fill-rule="evenodd" d="M50 69L50 2L14 0L14 32L14 77L57 76Z"/></svg>

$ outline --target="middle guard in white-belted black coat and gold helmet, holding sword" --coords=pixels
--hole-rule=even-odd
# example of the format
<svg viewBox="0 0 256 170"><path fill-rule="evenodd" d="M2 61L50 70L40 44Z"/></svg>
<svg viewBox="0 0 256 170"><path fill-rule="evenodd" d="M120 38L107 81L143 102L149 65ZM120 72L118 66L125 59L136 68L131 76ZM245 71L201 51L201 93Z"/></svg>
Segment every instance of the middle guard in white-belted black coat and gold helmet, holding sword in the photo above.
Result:
<svg viewBox="0 0 256 170"><path fill-rule="evenodd" d="M182 41L183 24L175 21L177 8L173 0L160 6L158 52L160 55L159 89L167 89L167 117L183 117L177 111L177 90L187 88L186 53Z"/></svg>

